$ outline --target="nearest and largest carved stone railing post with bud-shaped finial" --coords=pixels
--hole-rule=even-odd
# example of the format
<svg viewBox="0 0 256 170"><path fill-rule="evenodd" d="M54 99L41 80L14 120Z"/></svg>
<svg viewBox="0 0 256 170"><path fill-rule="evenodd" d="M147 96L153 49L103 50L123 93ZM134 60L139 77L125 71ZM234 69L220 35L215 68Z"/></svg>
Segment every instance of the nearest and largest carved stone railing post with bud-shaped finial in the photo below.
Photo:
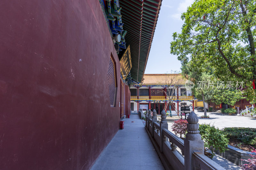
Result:
<svg viewBox="0 0 256 170"><path fill-rule="evenodd" d="M199 123L198 117L195 112L191 112L187 119L187 134L184 139L184 159L185 159L185 170L193 169L193 152L204 153L204 141L199 134Z"/></svg>

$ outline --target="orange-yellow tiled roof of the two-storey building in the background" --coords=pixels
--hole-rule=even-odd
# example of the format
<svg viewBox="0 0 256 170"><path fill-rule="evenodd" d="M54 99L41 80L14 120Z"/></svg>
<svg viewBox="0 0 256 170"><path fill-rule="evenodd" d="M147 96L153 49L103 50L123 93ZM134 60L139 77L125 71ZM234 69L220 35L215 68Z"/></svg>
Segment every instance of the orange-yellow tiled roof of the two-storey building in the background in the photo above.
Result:
<svg viewBox="0 0 256 170"><path fill-rule="evenodd" d="M146 85L183 85L186 82L181 74L144 74L142 84Z"/></svg>

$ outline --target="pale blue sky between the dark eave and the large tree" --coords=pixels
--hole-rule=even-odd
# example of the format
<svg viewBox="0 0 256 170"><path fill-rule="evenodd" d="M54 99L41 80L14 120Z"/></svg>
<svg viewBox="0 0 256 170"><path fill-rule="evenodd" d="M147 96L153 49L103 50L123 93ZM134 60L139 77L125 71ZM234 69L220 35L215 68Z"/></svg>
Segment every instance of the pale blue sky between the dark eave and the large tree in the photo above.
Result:
<svg viewBox="0 0 256 170"><path fill-rule="evenodd" d="M156 30L148 56L145 74L164 74L180 71L180 61L176 55L170 54L172 33L181 32L184 21L181 13L193 4L194 0L163 0L158 16Z"/></svg>

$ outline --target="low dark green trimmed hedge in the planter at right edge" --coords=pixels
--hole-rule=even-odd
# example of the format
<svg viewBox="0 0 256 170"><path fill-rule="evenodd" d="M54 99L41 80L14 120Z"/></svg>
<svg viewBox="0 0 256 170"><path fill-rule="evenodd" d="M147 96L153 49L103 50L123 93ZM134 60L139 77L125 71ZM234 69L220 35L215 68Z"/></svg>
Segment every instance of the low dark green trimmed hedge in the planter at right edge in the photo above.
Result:
<svg viewBox="0 0 256 170"><path fill-rule="evenodd" d="M244 144L256 145L256 128L224 128L227 137L240 140Z"/></svg>

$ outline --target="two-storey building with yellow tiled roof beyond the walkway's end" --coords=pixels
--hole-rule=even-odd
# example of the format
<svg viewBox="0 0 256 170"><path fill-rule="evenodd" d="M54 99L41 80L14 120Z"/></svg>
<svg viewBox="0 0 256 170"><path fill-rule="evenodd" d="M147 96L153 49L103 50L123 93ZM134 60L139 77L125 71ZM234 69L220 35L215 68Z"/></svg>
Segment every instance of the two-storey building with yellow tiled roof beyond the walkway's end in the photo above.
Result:
<svg viewBox="0 0 256 170"><path fill-rule="evenodd" d="M194 110L191 90L185 88L186 80L180 74L144 74L140 84L130 87L131 110L156 109L157 114L160 114L162 110L170 113L167 88L174 91L172 113L177 113L183 103L191 105L191 110Z"/></svg>

